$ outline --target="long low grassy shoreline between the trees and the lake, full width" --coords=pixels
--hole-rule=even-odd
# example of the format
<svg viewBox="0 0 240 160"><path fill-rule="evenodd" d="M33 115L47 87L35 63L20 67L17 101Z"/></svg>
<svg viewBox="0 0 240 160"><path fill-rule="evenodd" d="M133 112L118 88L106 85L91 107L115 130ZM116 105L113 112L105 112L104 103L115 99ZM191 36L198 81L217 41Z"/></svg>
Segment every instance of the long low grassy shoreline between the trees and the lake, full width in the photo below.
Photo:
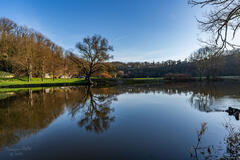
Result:
<svg viewBox="0 0 240 160"><path fill-rule="evenodd" d="M194 78L192 80L181 80L181 81L175 81L175 80L165 80L163 78L121 78L121 79L92 79L92 81L95 83L95 86L113 86L113 85L133 85L133 84L162 84L162 83L211 83L211 82L219 82L219 81L225 81L225 82L239 82L239 78L218 78L217 80L199 80L197 78ZM21 83L17 83L17 81L11 81L10 83L0 83L0 88L35 88L35 87L61 87L61 86L82 86L82 85L88 85L88 82L83 79L77 79L73 81L69 80L59 80L59 82L56 80L55 82L26 82L23 81Z"/></svg>

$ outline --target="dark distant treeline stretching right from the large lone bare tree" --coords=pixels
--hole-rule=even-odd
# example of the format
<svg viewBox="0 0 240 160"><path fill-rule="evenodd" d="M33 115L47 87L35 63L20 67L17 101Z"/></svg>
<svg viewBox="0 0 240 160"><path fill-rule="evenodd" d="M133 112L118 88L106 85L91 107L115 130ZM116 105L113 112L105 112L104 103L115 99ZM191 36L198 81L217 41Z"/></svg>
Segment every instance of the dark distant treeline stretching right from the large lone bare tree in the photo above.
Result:
<svg viewBox="0 0 240 160"><path fill-rule="evenodd" d="M163 77L169 73L188 74L194 77L240 75L240 51L216 52L210 47L200 48L184 61L162 62L112 62L119 77Z"/></svg>

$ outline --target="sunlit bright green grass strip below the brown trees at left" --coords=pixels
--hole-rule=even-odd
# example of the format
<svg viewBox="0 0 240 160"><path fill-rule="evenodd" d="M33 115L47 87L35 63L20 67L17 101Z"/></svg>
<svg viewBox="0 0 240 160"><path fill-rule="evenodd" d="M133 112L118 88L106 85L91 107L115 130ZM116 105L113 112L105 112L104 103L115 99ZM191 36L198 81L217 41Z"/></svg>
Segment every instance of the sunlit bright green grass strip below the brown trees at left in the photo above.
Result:
<svg viewBox="0 0 240 160"><path fill-rule="evenodd" d="M84 83L85 80L79 78L72 79L44 79L32 78L31 82L28 82L27 78L0 78L0 86L11 86L11 85L29 85L29 84L58 84L58 83Z"/></svg>

